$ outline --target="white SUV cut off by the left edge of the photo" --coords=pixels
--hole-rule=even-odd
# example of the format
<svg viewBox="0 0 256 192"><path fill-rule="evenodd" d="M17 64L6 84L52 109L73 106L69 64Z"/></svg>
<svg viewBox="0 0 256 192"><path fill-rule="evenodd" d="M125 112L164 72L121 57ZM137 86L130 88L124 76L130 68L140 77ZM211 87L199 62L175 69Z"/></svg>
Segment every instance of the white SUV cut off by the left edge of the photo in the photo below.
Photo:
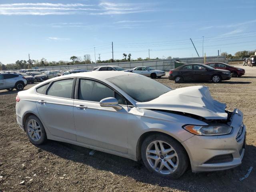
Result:
<svg viewBox="0 0 256 192"><path fill-rule="evenodd" d="M20 74L13 72L0 73L0 90L6 89L11 91L15 88L20 91L23 90L26 85L26 78Z"/></svg>

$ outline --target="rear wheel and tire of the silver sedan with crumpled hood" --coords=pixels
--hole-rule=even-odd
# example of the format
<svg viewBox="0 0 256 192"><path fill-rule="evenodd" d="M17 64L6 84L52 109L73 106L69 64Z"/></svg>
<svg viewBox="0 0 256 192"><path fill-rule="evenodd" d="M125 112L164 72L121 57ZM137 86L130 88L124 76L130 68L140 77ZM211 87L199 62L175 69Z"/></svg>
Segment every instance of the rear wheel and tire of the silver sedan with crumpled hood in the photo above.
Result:
<svg viewBox="0 0 256 192"><path fill-rule="evenodd" d="M36 125L36 126L33 126ZM42 122L35 115L30 115L25 124L28 139L32 144L40 145L46 142L47 136Z"/></svg>

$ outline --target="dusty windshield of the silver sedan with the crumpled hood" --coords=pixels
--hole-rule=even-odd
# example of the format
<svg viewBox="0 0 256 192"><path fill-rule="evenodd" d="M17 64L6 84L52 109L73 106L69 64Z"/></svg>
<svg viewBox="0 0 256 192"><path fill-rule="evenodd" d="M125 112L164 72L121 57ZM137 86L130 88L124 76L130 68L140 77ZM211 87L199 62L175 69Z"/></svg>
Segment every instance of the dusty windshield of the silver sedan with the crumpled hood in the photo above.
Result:
<svg viewBox="0 0 256 192"><path fill-rule="evenodd" d="M108 79L138 102L147 102L172 89L146 76L138 74L122 75Z"/></svg>

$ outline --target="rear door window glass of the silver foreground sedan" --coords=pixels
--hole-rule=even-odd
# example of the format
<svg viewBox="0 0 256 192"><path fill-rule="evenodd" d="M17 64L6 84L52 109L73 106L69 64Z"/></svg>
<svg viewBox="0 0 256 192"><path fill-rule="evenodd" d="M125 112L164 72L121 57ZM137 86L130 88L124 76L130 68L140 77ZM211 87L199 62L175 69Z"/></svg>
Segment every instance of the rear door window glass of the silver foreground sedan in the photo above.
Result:
<svg viewBox="0 0 256 192"><path fill-rule="evenodd" d="M47 95L71 98L73 81L73 79L65 79L53 82L47 91Z"/></svg>

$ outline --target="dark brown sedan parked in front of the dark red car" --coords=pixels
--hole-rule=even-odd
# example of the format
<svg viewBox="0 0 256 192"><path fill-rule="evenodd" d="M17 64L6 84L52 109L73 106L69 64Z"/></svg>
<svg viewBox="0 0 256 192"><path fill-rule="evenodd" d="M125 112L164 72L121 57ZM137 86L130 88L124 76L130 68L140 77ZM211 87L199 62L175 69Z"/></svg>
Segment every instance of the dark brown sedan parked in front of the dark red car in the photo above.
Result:
<svg viewBox="0 0 256 192"><path fill-rule="evenodd" d="M205 64L186 64L170 70L169 73L169 80L174 80L176 83L184 81L212 81L219 83L230 78L230 71L214 69Z"/></svg>

